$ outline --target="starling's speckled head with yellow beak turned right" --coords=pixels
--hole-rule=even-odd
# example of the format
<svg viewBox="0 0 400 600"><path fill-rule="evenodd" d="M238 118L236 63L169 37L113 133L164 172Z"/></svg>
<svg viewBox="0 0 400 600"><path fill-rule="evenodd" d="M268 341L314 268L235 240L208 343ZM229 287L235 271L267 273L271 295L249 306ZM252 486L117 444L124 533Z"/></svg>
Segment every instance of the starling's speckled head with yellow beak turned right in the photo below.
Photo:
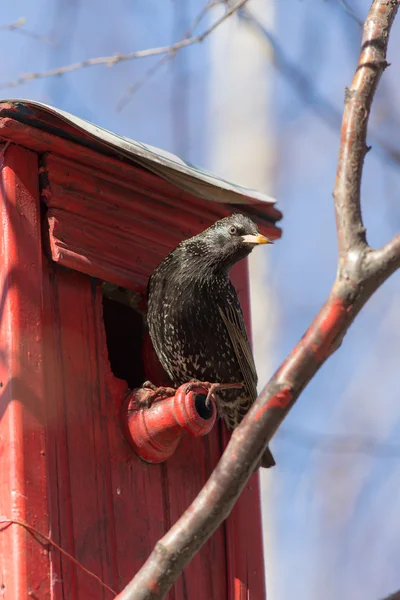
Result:
<svg viewBox="0 0 400 600"><path fill-rule="evenodd" d="M186 240L181 247L198 257L198 262L213 270L229 271L259 244L273 242L261 235L251 219L241 214L225 217L202 233Z"/></svg>

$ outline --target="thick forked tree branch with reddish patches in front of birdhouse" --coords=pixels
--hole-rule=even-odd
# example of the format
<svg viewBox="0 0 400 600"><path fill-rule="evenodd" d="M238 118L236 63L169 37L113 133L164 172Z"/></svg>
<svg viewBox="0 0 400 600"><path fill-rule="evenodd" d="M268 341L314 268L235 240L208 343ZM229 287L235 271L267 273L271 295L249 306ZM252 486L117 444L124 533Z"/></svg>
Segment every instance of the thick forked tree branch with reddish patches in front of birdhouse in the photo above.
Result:
<svg viewBox="0 0 400 600"><path fill-rule="evenodd" d="M374 0L359 64L346 94L335 184L339 264L331 293L304 337L264 388L197 498L156 544L118 600L163 598L182 569L229 515L262 452L300 393L335 352L358 312L399 266L400 236L380 250L365 241L360 185L367 123L386 63L400 0Z"/></svg>

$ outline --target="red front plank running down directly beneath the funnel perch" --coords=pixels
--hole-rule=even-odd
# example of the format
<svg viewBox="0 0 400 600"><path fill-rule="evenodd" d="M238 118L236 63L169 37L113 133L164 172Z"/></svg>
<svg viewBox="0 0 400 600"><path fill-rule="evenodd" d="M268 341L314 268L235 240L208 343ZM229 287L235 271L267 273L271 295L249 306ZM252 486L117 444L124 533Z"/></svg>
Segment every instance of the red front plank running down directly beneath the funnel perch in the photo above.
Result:
<svg viewBox="0 0 400 600"><path fill-rule="evenodd" d="M108 423L109 494L112 498L109 518L114 521L118 586L123 589L167 526L164 466L149 465L139 460L123 436L120 409L126 383L116 379L110 370L99 288L97 294L97 347L105 390L104 414ZM138 331L138 335L141 336L142 332ZM120 350L123 353L125 348ZM132 371L135 368L132 361ZM137 369L140 371L141 365Z"/></svg>

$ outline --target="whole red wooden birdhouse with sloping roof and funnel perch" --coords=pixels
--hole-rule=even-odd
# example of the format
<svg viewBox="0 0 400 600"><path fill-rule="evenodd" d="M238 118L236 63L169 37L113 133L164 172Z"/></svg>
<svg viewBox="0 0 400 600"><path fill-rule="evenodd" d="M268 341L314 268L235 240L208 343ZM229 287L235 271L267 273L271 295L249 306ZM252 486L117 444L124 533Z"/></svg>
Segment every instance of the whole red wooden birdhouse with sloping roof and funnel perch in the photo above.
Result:
<svg viewBox="0 0 400 600"><path fill-rule="evenodd" d="M0 596L107 600L229 438L213 406L196 404L201 389L158 403L144 441L133 423L129 390L165 384L148 277L221 217L244 213L277 238L281 215L261 194L35 102L0 103L0 153ZM246 262L232 279L249 327ZM258 477L171 599L264 598Z"/></svg>

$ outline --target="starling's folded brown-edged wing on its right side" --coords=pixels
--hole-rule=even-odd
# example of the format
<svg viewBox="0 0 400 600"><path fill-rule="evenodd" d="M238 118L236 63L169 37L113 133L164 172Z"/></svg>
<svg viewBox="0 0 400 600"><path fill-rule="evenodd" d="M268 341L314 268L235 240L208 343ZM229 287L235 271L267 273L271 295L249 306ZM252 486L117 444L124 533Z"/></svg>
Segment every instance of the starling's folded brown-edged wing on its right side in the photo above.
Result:
<svg viewBox="0 0 400 600"><path fill-rule="evenodd" d="M251 397L256 398L257 371L244 324L242 308L234 288L230 294L229 302L224 302L223 306L219 305L218 308L235 351L243 381Z"/></svg>

